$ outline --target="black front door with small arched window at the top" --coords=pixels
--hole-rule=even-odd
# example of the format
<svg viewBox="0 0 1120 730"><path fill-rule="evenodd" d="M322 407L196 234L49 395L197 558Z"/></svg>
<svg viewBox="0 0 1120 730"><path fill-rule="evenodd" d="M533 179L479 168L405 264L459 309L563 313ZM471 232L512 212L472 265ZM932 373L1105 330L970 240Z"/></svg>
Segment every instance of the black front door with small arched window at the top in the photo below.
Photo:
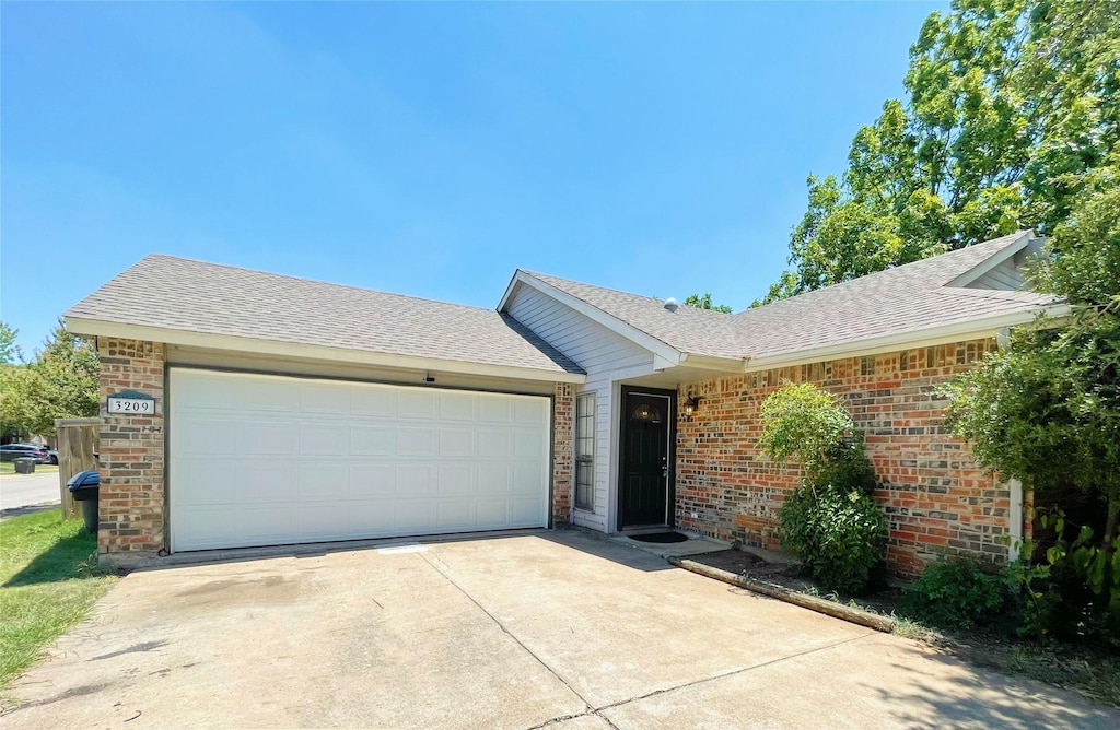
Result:
<svg viewBox="0 0 1120 730"><path fill-rule="evenodd" d="M673 393L624 389L618 526L670 524Z"/></svg>

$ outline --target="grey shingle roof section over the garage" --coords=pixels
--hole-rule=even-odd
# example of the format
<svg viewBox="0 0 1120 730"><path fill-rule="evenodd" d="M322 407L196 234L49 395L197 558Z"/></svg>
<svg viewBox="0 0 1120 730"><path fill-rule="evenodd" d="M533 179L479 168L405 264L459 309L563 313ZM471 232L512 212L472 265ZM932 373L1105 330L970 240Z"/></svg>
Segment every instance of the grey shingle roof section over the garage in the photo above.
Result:
<svg viewBox="0 0 1120 730"><path fill-rule="evenodd" d="M582 373L507 315L371 289L152 254L66 317Z"/></svg>

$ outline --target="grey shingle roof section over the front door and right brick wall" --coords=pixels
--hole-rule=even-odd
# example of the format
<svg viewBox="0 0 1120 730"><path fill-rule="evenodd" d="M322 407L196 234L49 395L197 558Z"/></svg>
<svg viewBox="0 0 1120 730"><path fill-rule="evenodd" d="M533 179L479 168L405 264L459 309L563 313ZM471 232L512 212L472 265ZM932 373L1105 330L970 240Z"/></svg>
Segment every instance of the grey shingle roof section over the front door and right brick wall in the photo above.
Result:
<svg viewBox="0 0 1120 730"><path fill-rule="evenodd" d="M682 353L766 357L1028 312L1055 303L1053 297L1029 291L948 286L1023 242L1024 236L1029 240L1030 233L1015 233L736 315L683 306L670 311L651 297L525 273Z"/></svg>

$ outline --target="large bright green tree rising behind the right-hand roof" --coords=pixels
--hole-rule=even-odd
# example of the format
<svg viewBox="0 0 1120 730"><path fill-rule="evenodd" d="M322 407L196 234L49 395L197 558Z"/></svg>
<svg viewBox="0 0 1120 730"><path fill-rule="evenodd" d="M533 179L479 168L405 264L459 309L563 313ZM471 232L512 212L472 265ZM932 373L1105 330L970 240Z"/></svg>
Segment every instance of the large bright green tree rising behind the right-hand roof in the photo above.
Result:
<svg viewBox="0 0 1120 730"><path fill-rule="evenodd" d="M765 303L1019 228L1054 232L1120 144L1120 3L956 0L911 47L906 100L809 178Z"/></svg>

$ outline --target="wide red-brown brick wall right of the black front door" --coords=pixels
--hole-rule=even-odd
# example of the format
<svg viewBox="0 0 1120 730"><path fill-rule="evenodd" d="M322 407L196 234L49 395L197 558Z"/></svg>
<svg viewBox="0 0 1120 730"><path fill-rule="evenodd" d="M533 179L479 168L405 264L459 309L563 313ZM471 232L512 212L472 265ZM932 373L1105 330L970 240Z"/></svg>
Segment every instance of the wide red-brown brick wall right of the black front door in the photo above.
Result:
<svg viewBox="0 0 1120 730"><path fill-rule="evenodd" d="M876 497L890 524L887 561L896 574L917 575L941 553L1006 560L1009 489L949 434L933 393L995 347L972 340L683 384L682 402L690 392L703 400L678 428L676 524L778 546L777 509L802 474L759 453L758 409L781 384L808 381L841 397L887 483Z"/></svg>

